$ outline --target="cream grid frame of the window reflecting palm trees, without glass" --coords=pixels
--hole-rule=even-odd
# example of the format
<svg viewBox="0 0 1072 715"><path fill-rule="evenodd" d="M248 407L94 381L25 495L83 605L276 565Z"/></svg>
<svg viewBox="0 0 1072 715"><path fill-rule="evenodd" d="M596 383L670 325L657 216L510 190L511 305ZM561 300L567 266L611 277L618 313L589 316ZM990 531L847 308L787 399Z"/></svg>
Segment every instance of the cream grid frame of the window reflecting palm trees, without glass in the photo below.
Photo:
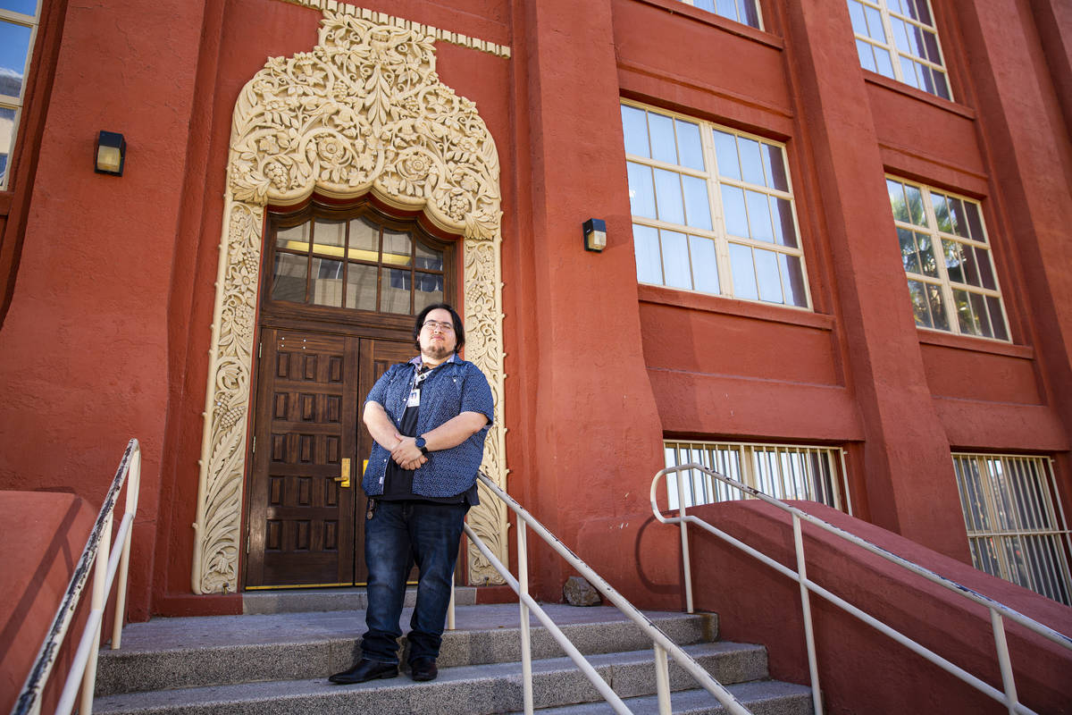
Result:
<svg viewBox="0 0 1072 715"><path fill-rule="evenodd" d="M902 184L902 187L914 187L920 191L920 195L923 200L924 217L926 218L927 225L924 227L910 222L899 221L896 217L893 217L894 233L896 234L897 228L904 228L907 230L911 230L913 233L924 233L925 230L925 233L927 233L927 235L930 238L930 253L934 257L935 267L938 271L938 275L937 277L927 275L926 273L921 273L921 272L910 273L908 271L908 268L904 266L904 259L902 260L902 268L905 271L906 285L908 281L918 281L928 285L938 285L940 287L942 295L942 302L946 309L946 321L950 325L950 329L944 330L938 327L933 327L933 326L927 327L925 325L920 325L917 322L915 324L917 329L927 330L941 334L954 334L954 336L962 336L965 338L976 338L979 340L989 340L999 343L1011 344L1013 342L1012 326L1009 323L1009 313L1008 310L1006 309L1004 297L1001 293L1001 280L1000 277L998 275L997 263L994 259L994 244L991 242L989 232L986 229L986 219L983 212L982 203L973 198L969 198L968 196L965 196L963 194L957 194L956 192L938 189L936 187L923 183L921 181L912 181L909 179L905 179L904 177L899 177L894 174L885 174L884 179L887 182L894 181L896 183ZM942 232L939 228L938 218L935 212L934 203L932 199L932 193L940 194L947 198L955 198L957 200L974 205L977 207L977 210L979 211L980 227L982 229L983 238L985 240L980 241L972 237L957 236L956 234ZM889 183L887 184L887 197L889 198ZM964 281L954 282L949 277L949 268L946 265L942 241L955 241L956 243L962 245L967 244L972 248L984 250L986 252L987 259L989 260L989 270L994 279L995 287L987 288L981 285L977 286ZM998 304L1001 308L1001 319L1004 322L1004 325L1002 327L1004 328L1006 337L1004 338L997 337L996 331L993 329L993 315L989 313L989 311L987 311L987 319L991 321L992 323L991 331L995 333L994 336L976 334L972 332L962 331L961 322L956 312L956 299L953 293L954 291L963 291L969 294L974 293L983 295L985 297L996 298ZM909 302L911 303L911 294L909 294ZM972 311L974 311L974 308L972 308ZM914 310L913 310L913 319L914 319Z"/></svg>

